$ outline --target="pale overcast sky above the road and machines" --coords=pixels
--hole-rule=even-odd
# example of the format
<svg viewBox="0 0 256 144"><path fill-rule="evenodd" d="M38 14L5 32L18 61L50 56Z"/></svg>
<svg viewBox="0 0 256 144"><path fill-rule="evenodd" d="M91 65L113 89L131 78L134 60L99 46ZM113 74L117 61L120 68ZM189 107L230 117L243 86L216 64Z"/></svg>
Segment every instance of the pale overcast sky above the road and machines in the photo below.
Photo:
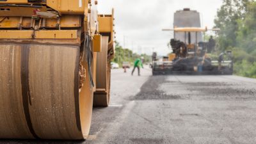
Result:
<svg viewBox="0 0 256 144"><path fill-rule="evenodd" d="M159 55L170 52L167 43L172 38L162 28L173 27L173 13L183 8L197 10L202 26L212 28L217 9L222 0L99 0L99 13L111 13L115 9L116 40L125 48L137 53ZM124 40L125 39L125 40Z"/></svg>

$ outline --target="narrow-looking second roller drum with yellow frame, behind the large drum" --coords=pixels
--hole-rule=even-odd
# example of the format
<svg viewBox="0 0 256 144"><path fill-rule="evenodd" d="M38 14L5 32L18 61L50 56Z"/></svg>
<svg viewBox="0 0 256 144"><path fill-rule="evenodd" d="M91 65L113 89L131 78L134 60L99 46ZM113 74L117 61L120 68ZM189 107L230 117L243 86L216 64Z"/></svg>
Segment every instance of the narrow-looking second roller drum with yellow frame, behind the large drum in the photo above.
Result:
<svg viewBox="0 0 256 144"><path fill-rule="evenodd" d="M102 52L97 57L97 84L93 106L107 107L110 99L111 60L114 56L114 10L110 15L98 15L99 32L102 35Z"/></svg>

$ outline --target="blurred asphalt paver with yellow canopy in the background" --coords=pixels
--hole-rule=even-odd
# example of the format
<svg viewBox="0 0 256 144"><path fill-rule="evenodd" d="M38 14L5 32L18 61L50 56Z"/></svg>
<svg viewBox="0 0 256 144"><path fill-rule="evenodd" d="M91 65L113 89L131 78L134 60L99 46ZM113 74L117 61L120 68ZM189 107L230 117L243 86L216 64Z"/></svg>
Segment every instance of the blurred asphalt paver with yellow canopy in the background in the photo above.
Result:
<svg viewBox="0 0 256 144"><path fill-rule="evenodd" d="M153 54L152 74L232 74L232 52L222 52L217 61L211 59L209 54L215 49L215 40L211 37L209 42L203 40L206 31L219 31L220 29L202 28L200 13L189 8L174 13L173 38L168 45L172 52L163 61L156 60Z"/></svg>

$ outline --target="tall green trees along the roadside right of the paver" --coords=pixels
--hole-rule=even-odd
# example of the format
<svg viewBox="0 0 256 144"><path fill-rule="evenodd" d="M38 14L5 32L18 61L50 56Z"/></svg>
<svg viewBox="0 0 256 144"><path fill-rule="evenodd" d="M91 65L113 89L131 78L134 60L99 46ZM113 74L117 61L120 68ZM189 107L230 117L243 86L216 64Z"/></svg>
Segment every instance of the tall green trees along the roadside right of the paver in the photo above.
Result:
<svg viewBox="0 0 256 144"><path fill-rule="evenodd" d="M234 74L256 78L256 2L223 0L214 22L220 51L233 52Z"/></svg>

